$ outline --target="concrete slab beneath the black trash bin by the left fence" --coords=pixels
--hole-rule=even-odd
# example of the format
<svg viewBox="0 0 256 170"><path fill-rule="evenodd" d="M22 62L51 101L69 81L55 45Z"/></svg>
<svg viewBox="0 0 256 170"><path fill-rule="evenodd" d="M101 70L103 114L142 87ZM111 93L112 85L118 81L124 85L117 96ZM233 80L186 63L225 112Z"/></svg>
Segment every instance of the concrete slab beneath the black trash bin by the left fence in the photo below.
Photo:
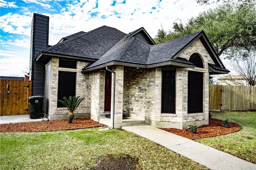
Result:
<svg viewBox="0 0 256 170"><path fill-rule="evenodd" d="M29 115L6 115L0 116L0 124L15 124L15 123L29 123L49 121L46 117L42 119L30 119Z"/></svg>

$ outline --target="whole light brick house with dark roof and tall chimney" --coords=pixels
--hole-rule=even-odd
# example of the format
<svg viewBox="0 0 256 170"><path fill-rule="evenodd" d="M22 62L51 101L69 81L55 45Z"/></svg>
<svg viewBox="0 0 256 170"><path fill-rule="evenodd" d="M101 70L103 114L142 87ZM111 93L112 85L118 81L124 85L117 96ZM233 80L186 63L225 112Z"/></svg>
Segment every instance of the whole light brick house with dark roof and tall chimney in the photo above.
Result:
<svg viewBox="0 0 256 170"><path fill-rule="evenodd" d="M46 97L44 114L50 120L67 119L58 99L82 96L75 118L110 127L129 119L178 129L208 124L209 75L229 71L204 31L155 44L143 27L126 34L102 26L48 46L48 29L49 17L34 14L32 95Z"/></svg>

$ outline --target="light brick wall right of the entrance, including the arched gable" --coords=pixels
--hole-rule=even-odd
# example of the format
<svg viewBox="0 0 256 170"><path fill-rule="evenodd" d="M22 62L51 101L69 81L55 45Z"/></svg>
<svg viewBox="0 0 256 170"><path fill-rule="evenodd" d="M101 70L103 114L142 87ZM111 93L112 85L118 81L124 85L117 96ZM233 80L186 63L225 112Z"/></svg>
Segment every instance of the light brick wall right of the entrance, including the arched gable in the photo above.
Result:
<svg viewBox="0 0 256 170"><path fill-rule="evenodd" d="M208 124L208 63L214 64L198 39L179 57L189 60L193 53L202 57L204 68L176 68L176 113L161 113L162 69L124 69L124 111L131 117L145 119L155 127L186 129L188 124ZM188 71L204 73L203 113L188 114Z"/></svg>

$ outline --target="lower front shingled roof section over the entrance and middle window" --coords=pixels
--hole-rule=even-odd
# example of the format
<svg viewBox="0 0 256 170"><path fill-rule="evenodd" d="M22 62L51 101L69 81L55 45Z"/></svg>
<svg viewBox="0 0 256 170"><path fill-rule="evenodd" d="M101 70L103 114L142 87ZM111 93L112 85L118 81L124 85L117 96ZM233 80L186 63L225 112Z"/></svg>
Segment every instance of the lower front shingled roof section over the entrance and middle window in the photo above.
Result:
<svg viewBox="0 0 256 170"><path fill-rule="evenodd" d="M140 66L142 68L152 67L155 64L164 63L165 65L172 64L177 66L186 66L194 68L194 64L180 57L176 57L195 39L202 31L186 35L177 39L173 39L164 43L156 45L148 45L135 37L127 35L120 40L108 53L103 55L98 61L83 68L83 70L92 70L91 68L98 68L114 64L131 66ZM122 45L120 45L122 44ZM174 58L175 57L175 58ZM168 62L168 63L167 63ZM105 64L105 65L104 65ZM159 65L158 65L159 66Z"/></svg>

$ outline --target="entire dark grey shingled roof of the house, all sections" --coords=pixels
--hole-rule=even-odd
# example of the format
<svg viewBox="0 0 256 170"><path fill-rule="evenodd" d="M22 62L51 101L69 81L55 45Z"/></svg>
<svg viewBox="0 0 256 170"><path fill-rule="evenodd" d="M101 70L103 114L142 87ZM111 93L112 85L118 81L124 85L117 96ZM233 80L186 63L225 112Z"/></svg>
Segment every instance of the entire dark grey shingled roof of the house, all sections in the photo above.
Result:
<svg viewBox="0 0 256 170"><path fill-rule="evenodd" d="M56 45L42 50L36 61L47 61L52 56L90 61L92 64L84 67L82 72L112 65L141 68L174 65L194 68L193 63L178 56L198 38L216 63L209 65L209 68L212 68L210 71L228 72L212 49L204 31L155 44L143 27L129 34L108 26L89 32L81 31L64 37Z"/></svg>

